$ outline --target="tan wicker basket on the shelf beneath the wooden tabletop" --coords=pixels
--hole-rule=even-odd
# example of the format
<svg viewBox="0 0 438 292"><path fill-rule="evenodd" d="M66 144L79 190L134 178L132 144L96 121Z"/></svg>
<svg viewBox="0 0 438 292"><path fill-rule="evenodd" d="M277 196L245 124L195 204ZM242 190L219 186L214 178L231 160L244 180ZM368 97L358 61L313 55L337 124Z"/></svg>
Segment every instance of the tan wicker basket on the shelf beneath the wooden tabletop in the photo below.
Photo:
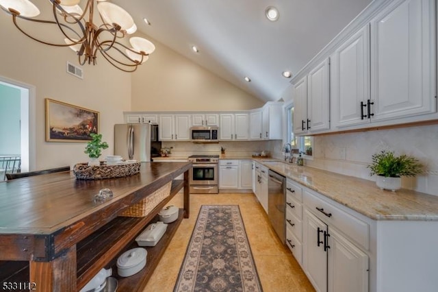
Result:
<svg viewBox="0 0 438 292"><path fill-rule="evenodd" d="M145 197L137 204L132 205L123 211L119 216L122 217L145 217L166 197L170 195L170 188L172 187L172 182L168 182L161 188L157 189L155 193Z"/></svg>

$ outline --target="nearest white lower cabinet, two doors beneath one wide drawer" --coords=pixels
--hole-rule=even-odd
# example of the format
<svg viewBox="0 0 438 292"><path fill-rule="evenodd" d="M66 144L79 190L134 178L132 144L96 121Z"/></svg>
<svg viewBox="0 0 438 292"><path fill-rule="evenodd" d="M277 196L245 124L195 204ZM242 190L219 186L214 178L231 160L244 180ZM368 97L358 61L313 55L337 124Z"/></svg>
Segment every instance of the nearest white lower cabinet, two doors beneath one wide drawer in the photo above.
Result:
<svg viewBox="0 0 438 292"><path fill-rule="evenodd" d="M359 219L310 191L305 191L303 212L302 267L315 290L367 292L368 254L346 236L362 231L365 234L357 237L368 239L368 229L362 227L366 223L358 222ZM339 227L346 228L340 232Z"/></svg>

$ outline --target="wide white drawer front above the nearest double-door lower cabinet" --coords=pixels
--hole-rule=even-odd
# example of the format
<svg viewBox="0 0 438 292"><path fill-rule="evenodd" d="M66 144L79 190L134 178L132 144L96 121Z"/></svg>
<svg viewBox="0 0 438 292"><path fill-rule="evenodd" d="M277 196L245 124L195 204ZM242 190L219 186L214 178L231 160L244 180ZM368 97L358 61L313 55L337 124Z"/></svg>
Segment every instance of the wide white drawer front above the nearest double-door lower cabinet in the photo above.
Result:
<svg viewBox="0 0 438 292"><path fill-rule="evenodd" d="M333 226L344 232L347 236L366 250L370 245L370 226L368 223L357 219L353 215L348 214L344 210L335 207L333 204L326 202L311 191L305 191L304 205L316 217L319 217L327 225Z"/></svg>

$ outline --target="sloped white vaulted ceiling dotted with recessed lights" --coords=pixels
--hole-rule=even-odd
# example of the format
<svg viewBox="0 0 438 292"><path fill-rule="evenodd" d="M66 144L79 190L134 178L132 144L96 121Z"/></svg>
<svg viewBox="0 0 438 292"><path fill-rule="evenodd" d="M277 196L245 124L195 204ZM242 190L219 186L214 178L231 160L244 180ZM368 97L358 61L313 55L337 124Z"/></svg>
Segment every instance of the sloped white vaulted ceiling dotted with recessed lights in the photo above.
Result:
<svg viewBox="0 0 438 292"><path fill-rule="evenodd" d="M140 32L251 95L277 101L290 85L281 73L298 73L371 0L112 2L133 16ZM266 19L270 5L279 9L279 21ZM245 76L252 81L244 81Z"/></svg>

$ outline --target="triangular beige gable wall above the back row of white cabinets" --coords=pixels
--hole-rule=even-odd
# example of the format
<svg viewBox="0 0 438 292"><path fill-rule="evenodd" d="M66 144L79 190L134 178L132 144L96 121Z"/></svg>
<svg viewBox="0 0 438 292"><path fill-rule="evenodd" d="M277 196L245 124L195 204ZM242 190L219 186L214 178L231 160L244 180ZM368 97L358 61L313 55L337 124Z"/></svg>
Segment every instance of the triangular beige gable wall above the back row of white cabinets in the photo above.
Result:
<svg viewBox="0 0 438 292"><path fill-rule="evenodd" d="M260 99L150 40L157 49L132 75L133 111L250 110L263 106Z"/></svg>

